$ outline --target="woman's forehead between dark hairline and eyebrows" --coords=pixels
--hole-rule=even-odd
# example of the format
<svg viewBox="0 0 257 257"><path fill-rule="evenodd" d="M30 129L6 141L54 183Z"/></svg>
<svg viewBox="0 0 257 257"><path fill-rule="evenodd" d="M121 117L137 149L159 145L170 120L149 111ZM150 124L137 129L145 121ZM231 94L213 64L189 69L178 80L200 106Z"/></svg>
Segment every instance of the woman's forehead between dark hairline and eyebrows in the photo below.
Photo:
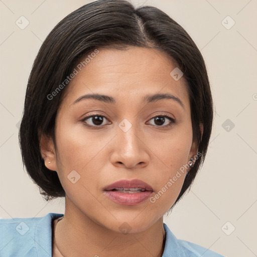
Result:
<svg viewBox="0 0 257 257"><path fill-rule="evenodd" d="M77 75L65 92L65 102L71 105L84 94L104 94L122 100L144 101L145 95L171 93L189 106L186 80L183 76L175 80L170 73L175 62L165 53L141 47L126 50L98 49L97 55L84 56L76 66ZM81 67L79 70L77 67Z"/></svg>

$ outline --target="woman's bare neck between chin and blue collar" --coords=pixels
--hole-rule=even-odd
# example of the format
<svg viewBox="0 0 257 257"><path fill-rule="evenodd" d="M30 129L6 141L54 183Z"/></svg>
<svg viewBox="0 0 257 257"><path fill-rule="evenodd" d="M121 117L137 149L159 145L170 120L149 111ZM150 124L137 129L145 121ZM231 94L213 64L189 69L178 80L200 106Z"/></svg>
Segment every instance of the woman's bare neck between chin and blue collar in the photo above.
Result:
<svg viewBox="0 0 257 257"><path fill-rule="evenodd" d="M63 256L161 257L165 246L163 217L138 233L116 232L94 222L66 196L65 213L55 228L55 241Z"/></svg>

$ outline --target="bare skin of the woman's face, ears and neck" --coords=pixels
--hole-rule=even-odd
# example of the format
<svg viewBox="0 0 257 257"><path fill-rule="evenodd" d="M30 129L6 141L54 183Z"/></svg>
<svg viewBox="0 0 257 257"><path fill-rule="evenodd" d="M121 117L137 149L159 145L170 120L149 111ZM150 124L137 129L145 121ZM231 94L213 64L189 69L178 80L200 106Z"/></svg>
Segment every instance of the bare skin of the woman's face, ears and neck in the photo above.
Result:
<svg viewBox="0 0 257 257"><path fill-rule="evenodd" d="M64 256L162 256L163 215L175 203L186 172L155 203L120 205L103 188L120 179L140 179L155 195L196 155L186 81L171 77L175 67L159 50L99 49L65 89L56 117L56 145L46 135L40 141L46 167L57 171L66 192L64 218L55 229ZM94 99L73 104L88 93L112 96L116 104ZM184 107L172 99L143 102L154 93L170 93ZM101 124L83 120L96 113L106 117ZM176 123L155 121L166 113ZM132 124L127 132L118 126L124 118ZM73 170L80 175L75 184L67 178ZM131 228L127 234L119 230L123 222ZM62 255L54 250L53 256Z"/></svg>

